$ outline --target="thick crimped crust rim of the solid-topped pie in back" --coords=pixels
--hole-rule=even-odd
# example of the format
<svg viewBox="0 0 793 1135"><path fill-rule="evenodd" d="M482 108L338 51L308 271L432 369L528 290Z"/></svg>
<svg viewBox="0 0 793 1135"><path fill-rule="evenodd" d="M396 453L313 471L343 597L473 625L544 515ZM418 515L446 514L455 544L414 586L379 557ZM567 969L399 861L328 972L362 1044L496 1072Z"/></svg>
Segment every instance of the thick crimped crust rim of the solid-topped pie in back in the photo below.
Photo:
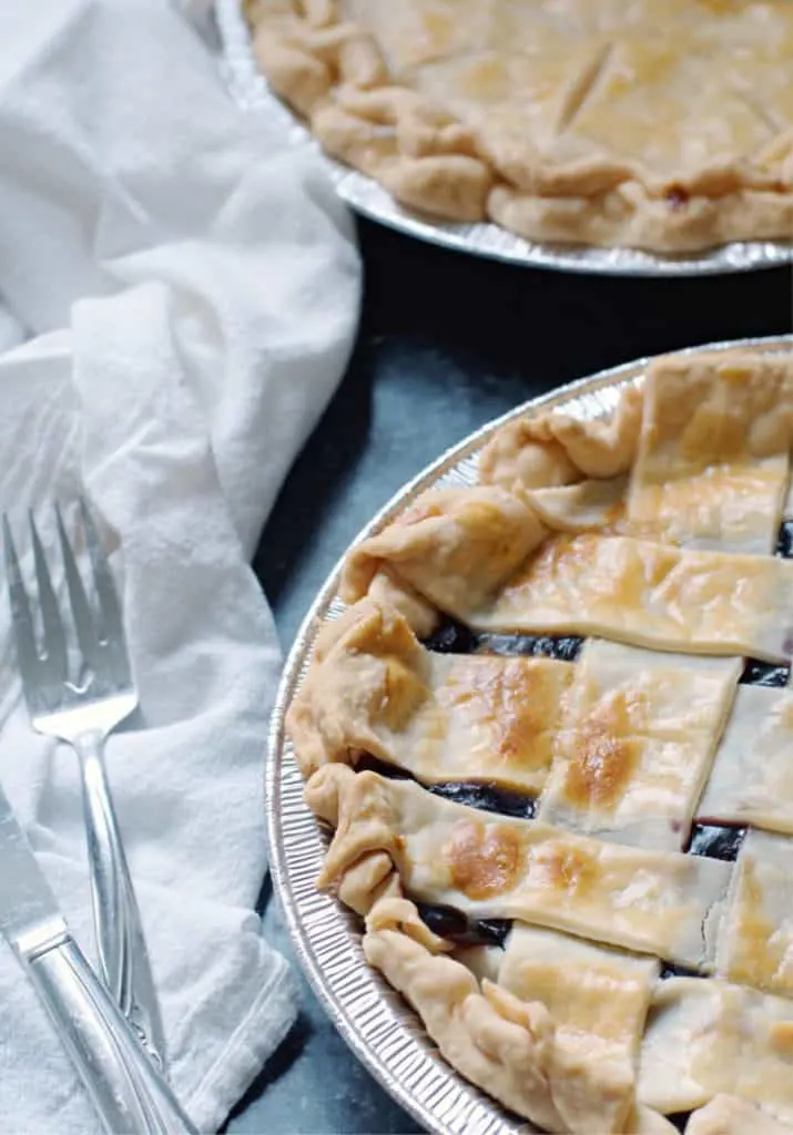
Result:
<svg viewBox="0 0 793 1135"><path fill-rule="evenodd" d="M608 144L587 138L585 123L583 133L565 132L611 64L608 44L596 48L564 95L560 133L543 150L525 131L490 126L486 111L471 128L406 85L409 77L395 82L376 35L344 20L336 6L252 0L248 17L274 90L310 120L328 153L379 180L409 208L459 221L490 218L528 239L661 252L793 236L790 129L759 152L746 143L746 157L709 157L668 174L611 154ZM629 37L620 52L629 68ZM612 83L619 66L616 58ZM360 99L361 89L373 100ZM709 112L718 114L718 106L711 94Z"/></svg>

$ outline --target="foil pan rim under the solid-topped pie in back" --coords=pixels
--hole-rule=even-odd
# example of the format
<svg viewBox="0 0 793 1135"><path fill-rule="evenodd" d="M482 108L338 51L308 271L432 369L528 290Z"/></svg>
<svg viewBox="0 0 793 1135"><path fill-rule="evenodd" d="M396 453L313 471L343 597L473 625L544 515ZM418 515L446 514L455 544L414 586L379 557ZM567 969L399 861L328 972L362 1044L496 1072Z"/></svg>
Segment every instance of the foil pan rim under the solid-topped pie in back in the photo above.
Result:
<svg viewBox="0 0 793 1135"><path fill-rule="evenodd" d="M223 45L223 73L236 102L254 114L273 137L310 145L339 196L357 212L429 244L525 268L600 276L721 276L793 263L793 242L746 241L688 257L665 257L633 249L576 247L523 239L498 225L461 225L426 220L402 209L373 178L328 158L307 127L273 93L251 50L240 0L216 0Z"/></svg>

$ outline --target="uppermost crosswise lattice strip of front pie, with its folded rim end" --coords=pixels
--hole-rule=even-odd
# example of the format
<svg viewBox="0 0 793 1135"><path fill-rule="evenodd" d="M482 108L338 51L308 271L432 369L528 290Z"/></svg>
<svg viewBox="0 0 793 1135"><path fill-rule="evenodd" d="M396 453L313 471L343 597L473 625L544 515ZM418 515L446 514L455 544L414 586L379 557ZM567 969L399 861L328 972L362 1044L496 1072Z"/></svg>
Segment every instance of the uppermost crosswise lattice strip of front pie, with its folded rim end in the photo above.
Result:
<svg viewBox="0 0 793 1135"><path fill-rule="evenodd" d="M791 657L793 563L632 537L546 535L528 504L495 487L428 493L352 552L343 595L360 598L386 571L477 630Z"/></svg>

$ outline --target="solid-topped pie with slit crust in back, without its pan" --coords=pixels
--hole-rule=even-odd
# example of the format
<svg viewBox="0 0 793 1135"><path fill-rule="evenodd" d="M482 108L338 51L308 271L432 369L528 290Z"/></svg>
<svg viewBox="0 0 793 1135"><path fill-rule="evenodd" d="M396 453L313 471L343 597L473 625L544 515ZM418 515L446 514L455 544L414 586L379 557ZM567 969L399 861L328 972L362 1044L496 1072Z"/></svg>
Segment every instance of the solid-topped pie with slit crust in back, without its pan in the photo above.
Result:
<svg viewBox="0 0 793 1135"><path fill-rule="evenodd" d="M793 237L790 0L245 0L268 82L403 205L668 253Z"/></svg>

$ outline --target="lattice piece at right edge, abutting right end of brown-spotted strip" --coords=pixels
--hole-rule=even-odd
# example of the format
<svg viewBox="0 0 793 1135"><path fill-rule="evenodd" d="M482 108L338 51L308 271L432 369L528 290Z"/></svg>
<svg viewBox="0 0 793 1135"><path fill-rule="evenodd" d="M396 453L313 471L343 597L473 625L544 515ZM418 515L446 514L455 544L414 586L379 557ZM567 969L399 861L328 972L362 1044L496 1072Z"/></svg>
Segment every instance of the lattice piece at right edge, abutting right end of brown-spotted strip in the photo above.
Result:
<svg viewBox="0 0 793 1135"><path fill-rule="evenodd" d="M769 993L793 995L793 842L750 831L738 854L719 934L719 973ZM793 1056L793 1026L791 1032Z"/></svg>

